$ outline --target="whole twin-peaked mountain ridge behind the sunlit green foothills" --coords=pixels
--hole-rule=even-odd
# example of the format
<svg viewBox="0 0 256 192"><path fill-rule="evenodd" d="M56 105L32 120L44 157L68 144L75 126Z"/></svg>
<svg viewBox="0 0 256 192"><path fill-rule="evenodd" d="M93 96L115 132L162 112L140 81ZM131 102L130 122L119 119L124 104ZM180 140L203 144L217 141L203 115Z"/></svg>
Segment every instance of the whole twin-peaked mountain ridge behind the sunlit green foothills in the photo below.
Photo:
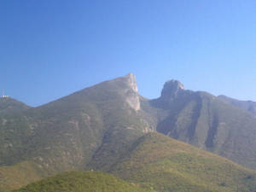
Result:
<svg viewBox="0 0 256 192"><path fill-rule="evenodd" d="M3 114L0 191L60 172L111 172L139 138L155 131L255 169L253 114L207 92L185 90L177 80L162 92L154 100L140 96L135 76L128 74Z"/></svg>

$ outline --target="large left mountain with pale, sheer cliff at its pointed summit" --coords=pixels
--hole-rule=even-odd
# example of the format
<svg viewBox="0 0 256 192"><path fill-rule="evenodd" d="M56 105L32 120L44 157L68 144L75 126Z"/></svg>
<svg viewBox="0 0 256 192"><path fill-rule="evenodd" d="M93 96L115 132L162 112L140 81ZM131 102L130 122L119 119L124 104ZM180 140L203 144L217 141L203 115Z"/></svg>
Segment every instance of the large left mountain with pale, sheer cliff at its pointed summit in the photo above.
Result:
<svg viewBox="0 0 256 192"><path fill-rule="evenodd" d="M138 137L153 131L154 123L140 110L140 98L135 76L128 74L23 113L3 115L0 189L84 170L96 160L108 169Z"/></svg>

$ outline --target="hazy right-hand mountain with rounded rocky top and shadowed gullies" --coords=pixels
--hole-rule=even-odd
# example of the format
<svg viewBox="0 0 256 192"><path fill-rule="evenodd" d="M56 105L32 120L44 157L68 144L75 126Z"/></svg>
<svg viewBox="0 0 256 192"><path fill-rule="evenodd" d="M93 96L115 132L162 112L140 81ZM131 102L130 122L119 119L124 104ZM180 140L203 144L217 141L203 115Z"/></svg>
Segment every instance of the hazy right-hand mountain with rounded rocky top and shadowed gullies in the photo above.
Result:
<svg viewBox="0 0 256 192"><path fill-rule="evenodd" d="M256 118L203 91L184 90L177 80L166 82L157 99L156 130L167 136L256 169Z"/></svg>

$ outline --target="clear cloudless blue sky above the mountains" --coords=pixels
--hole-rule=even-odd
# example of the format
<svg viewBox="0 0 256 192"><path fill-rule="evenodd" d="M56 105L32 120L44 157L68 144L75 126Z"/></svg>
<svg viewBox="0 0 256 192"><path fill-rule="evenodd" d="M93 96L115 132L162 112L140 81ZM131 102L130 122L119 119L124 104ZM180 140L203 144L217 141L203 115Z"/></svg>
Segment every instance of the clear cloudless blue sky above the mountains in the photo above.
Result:
<svg viewBox="0 0 256 192"><path fill-rule="evenodd" d="M2 0L0 90L32 106L134 73L256 101L255 0Z"/></svg>

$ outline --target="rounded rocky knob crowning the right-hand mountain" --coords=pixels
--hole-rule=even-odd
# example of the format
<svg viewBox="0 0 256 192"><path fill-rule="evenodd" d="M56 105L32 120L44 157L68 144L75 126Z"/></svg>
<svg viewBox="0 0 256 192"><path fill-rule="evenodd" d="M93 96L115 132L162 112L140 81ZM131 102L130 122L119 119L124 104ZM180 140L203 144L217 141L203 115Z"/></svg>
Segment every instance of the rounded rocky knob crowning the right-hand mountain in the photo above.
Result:
<svg viewBox="0 0 256 192"><path fill-rule="evenodd" d="M178 80L172 79L166 81L164 88L161 92L161 97L176 97L180 90L184 90L184 85Z"/></svg>

